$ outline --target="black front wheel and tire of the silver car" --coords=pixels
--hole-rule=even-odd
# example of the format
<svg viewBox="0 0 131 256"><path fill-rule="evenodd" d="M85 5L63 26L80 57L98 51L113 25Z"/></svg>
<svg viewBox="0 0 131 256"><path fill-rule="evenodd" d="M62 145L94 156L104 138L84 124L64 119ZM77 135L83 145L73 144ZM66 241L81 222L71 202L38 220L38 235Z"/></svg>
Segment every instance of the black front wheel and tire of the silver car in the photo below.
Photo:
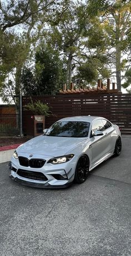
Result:
<svg viewBox="0 0 131 256"><path fill-rule="evenodd" d="M83 183L87 179L89 173L89 158L87 155L82 155L75 169L74 182Z"/></svg>

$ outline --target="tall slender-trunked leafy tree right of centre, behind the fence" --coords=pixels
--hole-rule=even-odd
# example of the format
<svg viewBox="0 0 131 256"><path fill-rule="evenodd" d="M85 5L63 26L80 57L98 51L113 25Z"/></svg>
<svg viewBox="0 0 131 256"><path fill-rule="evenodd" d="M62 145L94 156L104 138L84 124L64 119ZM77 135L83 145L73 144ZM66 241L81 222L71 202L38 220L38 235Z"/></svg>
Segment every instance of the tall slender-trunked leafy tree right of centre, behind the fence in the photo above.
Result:
<svg viewBox="0 0 131 256"><path fill-rule="evenodd" d="M68 8L64 11L58 24L51 23L48 33L53 48L56 48L66 60L66 82L72 81L73 71L79 65L80 52L84 49L84 34L82 20L84 4L68 1Z"/></svg>

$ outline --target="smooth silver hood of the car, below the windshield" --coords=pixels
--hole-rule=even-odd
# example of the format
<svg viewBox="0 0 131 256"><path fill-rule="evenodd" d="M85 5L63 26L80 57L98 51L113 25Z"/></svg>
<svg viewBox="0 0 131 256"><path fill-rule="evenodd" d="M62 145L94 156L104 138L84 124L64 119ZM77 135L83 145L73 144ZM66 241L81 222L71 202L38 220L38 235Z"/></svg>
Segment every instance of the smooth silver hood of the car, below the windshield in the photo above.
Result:
<svg viewBox="0 0 131 256"><path fill-rule="evenodd" d="M50 137L40 135L19 146L17 152L30 154L37 153L40 155L57 157L68 153L80 144L85 144L85 142L87 142L87 138Z"/></svg>

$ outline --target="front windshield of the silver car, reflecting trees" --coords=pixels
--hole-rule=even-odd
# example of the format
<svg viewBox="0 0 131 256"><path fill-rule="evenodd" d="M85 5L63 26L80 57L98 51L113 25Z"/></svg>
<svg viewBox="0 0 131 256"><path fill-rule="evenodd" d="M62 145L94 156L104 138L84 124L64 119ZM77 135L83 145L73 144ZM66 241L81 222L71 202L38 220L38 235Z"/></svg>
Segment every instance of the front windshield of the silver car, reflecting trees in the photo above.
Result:
<svg viewBox="0 0 131 256"><path fill-rule="evenodd" d="M45 135L58 137L87 137L89 132L88 122L58 121L49 128Z"/></svg>

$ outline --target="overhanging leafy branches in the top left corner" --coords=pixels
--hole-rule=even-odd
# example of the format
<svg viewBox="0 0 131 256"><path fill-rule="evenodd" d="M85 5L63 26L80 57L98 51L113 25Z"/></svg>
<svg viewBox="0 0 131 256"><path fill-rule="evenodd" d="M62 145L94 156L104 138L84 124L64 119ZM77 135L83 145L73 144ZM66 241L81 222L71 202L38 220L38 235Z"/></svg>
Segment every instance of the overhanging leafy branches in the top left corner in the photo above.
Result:
<svg viewBox="0 0 131 256"><path fill-rule="evenodd" d="M17 25L26 26L32 22L36 22L43 18L43 14L49 11L49 7L53 4L59 4L58 0L38 1L38 0L9 0L0 1L1 9L1 30L4 32L8 28ZM45 12L45 13L44 13Z"/></svg>

